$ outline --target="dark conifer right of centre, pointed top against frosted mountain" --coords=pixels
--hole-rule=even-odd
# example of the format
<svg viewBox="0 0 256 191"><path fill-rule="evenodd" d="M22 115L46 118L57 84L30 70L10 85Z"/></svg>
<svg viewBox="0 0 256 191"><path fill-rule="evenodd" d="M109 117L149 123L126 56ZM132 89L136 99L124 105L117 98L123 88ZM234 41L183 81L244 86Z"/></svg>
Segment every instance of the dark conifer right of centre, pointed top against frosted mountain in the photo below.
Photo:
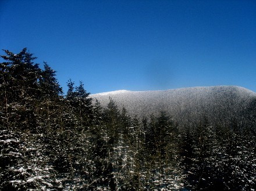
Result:
<svg viewBox="0 0 256 191"><path fill-rule="evenodd" d="M177 160L177 128L165 111L161 111L158 117L151 116L146 141L149 155L147 188L182 188L182 171Z"/></svg>

